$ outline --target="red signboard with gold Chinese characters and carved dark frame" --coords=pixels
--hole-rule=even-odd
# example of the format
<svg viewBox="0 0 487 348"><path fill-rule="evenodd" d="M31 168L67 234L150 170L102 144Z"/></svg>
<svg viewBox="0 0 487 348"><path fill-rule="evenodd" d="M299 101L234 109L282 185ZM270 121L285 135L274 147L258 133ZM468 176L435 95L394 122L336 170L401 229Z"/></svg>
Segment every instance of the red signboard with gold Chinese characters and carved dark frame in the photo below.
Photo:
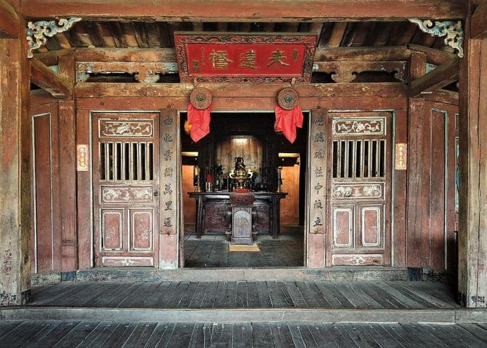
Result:
<svg viewBox="0 0 487 348"><path fill-rule="evenodd" d="M175 33L179 79L310 82L316 35Z"/></svg>

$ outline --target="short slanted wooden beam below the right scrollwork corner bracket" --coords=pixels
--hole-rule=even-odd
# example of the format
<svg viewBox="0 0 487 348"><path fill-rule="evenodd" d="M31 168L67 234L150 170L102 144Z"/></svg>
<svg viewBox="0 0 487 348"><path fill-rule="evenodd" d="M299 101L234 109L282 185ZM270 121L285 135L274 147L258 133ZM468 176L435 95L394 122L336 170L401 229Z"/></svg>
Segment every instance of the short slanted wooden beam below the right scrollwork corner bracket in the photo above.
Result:
<svg viewBox="0 0 487 348"><path fill-rule="evenodd" d="M409 88L410 97L420 97L422 94L431 93L445 87L458 79L458 59L452 59L448 63L440 65L419 79L411 81Z"/></svg>

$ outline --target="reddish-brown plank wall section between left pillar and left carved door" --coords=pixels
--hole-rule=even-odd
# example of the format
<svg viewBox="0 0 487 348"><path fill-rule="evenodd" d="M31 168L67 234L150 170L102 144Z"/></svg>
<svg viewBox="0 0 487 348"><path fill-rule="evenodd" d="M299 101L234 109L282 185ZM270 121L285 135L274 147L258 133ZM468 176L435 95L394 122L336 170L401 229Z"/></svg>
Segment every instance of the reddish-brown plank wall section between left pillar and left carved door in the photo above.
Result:
<svg viewBox="0 0 487 348"><path fill-rule="evenodd" d="M31 271L77 269L74 104L31 94Z"/></svg>

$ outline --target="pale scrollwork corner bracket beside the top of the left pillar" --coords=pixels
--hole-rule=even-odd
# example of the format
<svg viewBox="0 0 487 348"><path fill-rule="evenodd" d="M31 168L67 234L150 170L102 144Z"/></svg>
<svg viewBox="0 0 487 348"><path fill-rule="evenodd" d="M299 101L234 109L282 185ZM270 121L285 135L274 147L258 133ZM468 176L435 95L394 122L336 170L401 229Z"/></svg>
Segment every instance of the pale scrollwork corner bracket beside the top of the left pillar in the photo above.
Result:
<svg viewBox="0 0 487 348"><path fill-rule="evenodd" d="M45 45L47 38L52 38L57 33L62 33L71 29L74 23L79 22L81 18L71 17L68 19L59 19L58 24L56 21L40 21L40 22L29 22L27 24L27 35L26 40L29 44L27 49L27 57L33 57L33 50L38 49L42 45Z"/></svg>

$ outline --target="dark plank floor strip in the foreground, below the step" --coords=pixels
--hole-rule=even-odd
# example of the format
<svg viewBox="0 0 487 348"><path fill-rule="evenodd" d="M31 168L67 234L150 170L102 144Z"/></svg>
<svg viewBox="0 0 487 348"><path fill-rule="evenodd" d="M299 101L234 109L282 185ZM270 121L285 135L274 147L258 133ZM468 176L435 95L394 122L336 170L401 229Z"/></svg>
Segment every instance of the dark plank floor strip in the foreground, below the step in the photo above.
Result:
<svg viewBox="0 0 487 348"><path fill-rule="evenodd" d="M2 347L486 347L487 324L0 322Z"/></svg>

